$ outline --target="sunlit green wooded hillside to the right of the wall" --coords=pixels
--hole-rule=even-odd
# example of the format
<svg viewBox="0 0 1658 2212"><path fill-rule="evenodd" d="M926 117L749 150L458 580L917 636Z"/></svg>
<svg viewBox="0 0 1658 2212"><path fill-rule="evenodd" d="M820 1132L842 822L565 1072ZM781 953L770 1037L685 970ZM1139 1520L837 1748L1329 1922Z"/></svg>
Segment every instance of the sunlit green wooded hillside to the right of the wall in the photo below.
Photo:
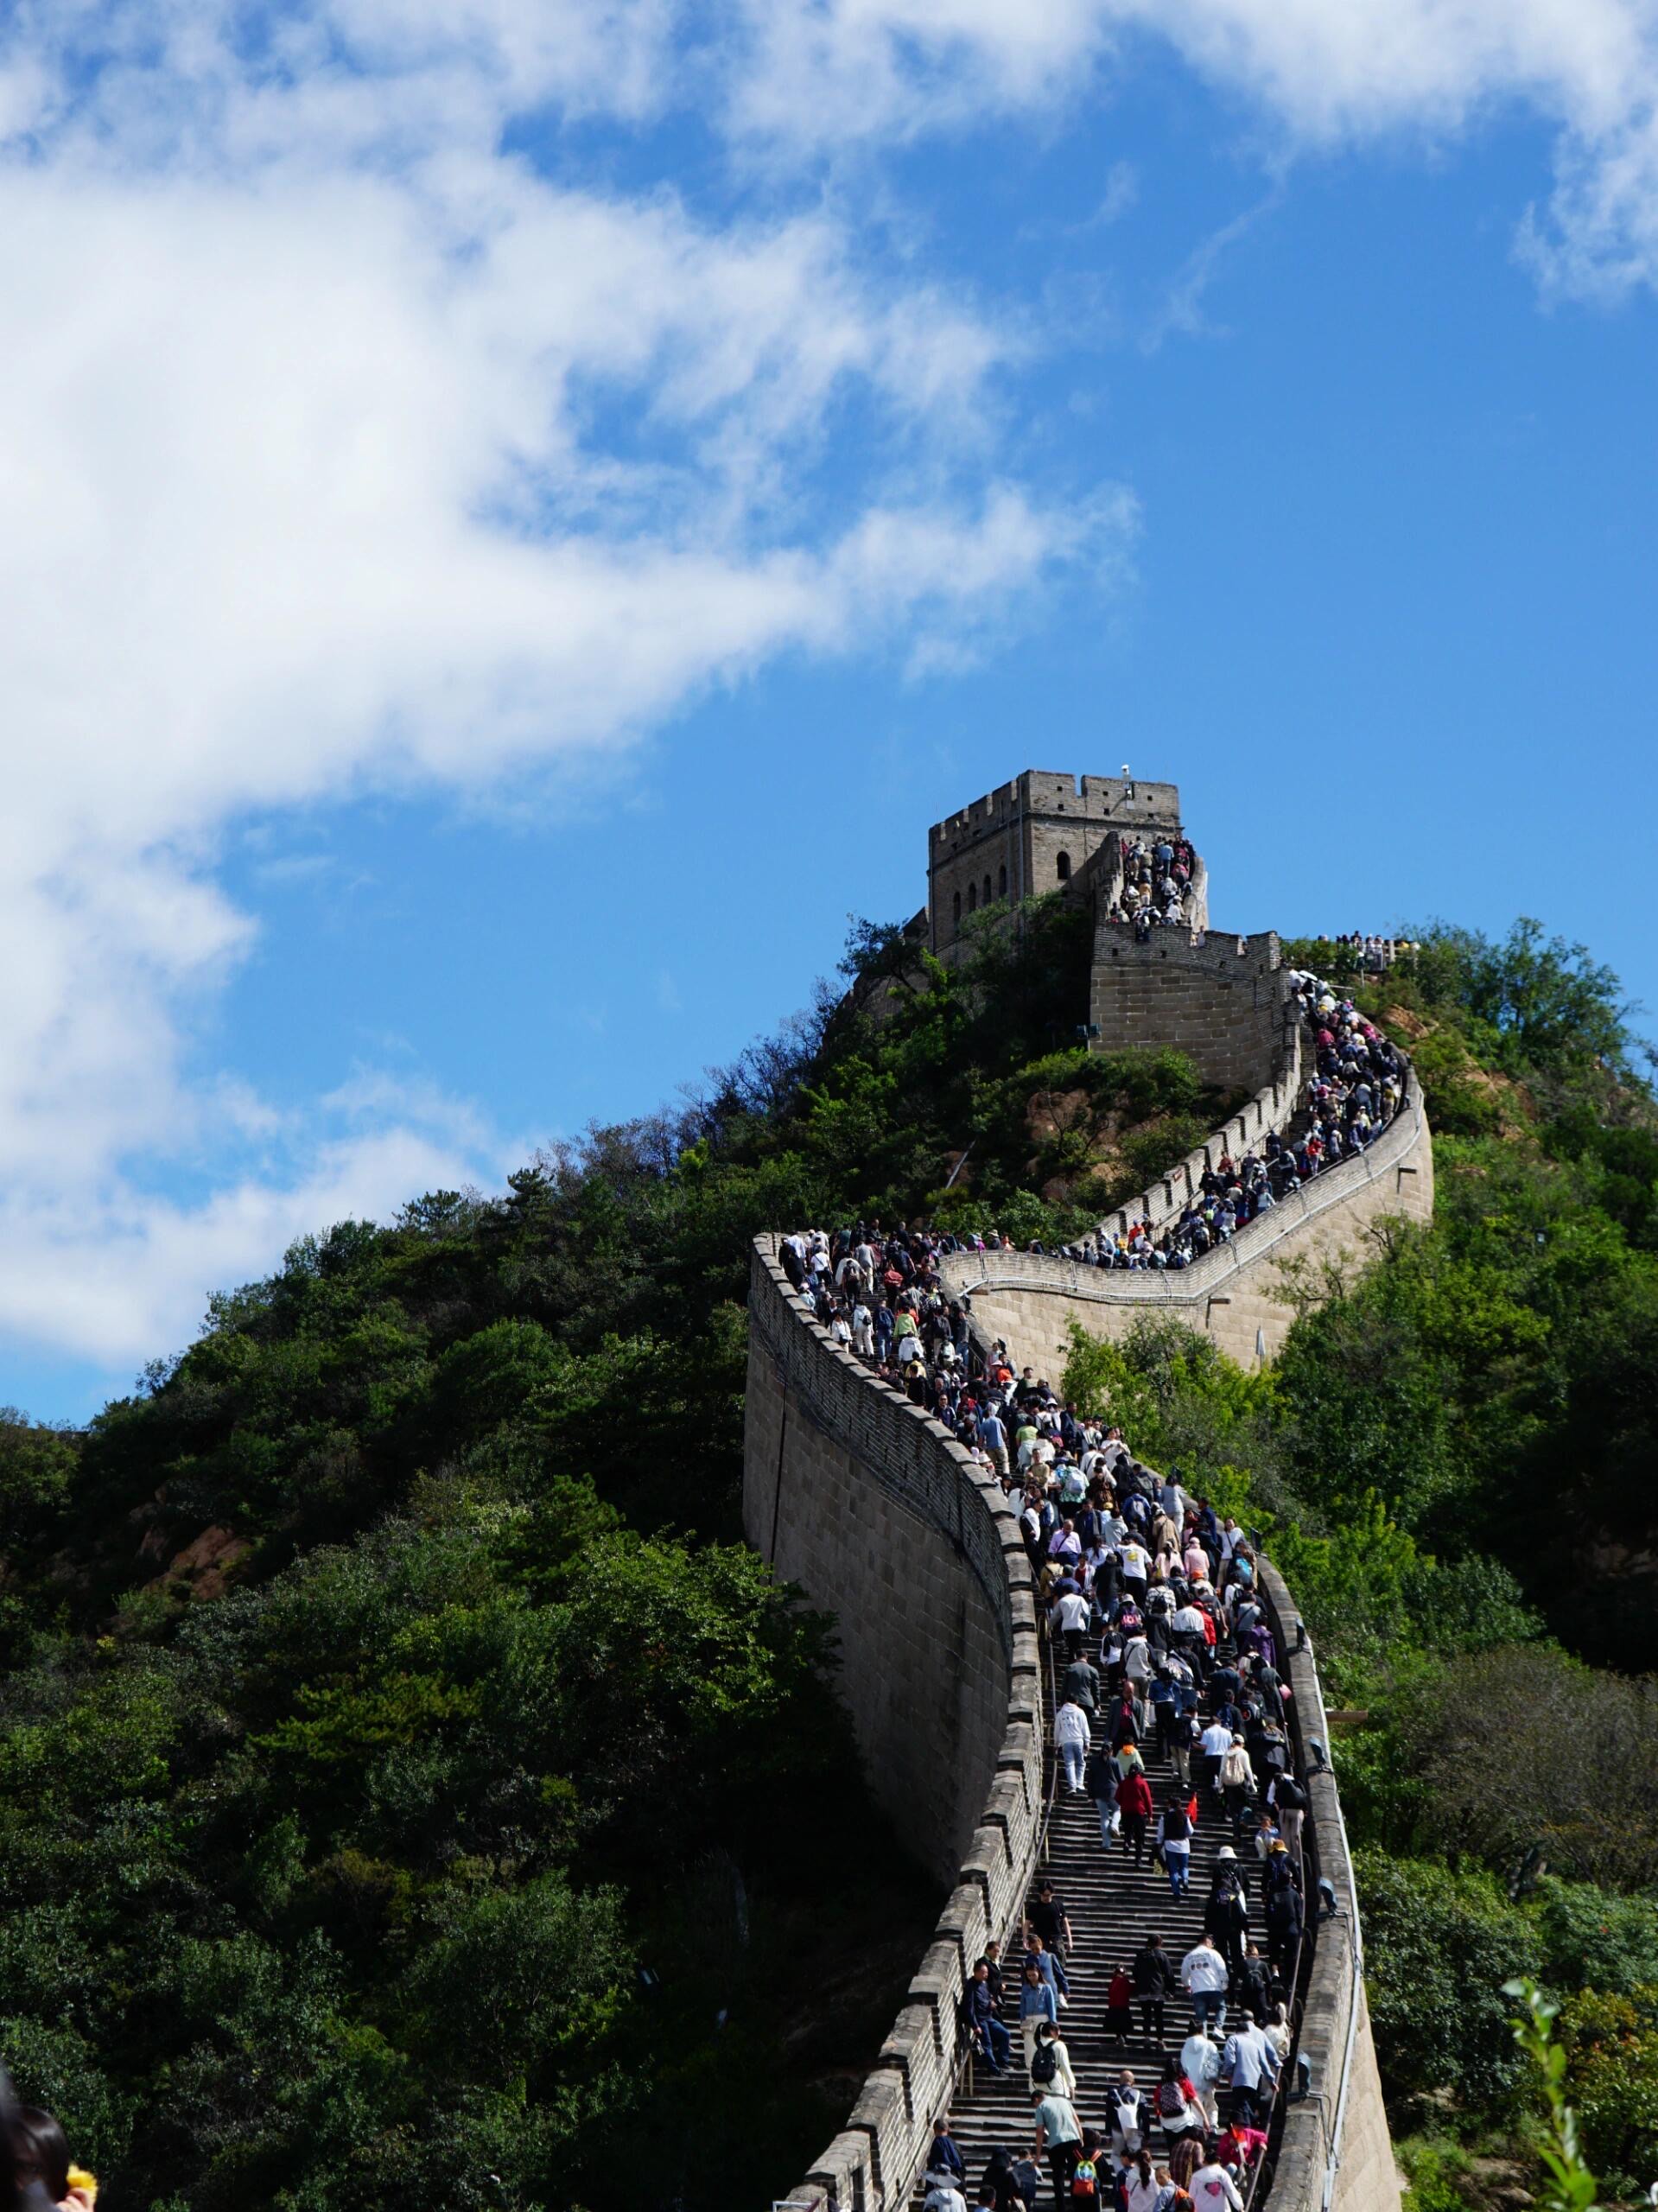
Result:
<svg viewBox="0 0 1658 2212"><path fill-rule="evenodd" d="M1581 949L1417 936L1346 982L1410 1040L1433 1228L1302 1276L1267 1374L1143 1327L1077 1340L1066 1385L1267 1533L1357 1714L1333 1750L1417 2212L1534 2179L1512 1975L1563 2004L1589 2161L1627 2199L1658 2170L1658 1117Z"/></svg>

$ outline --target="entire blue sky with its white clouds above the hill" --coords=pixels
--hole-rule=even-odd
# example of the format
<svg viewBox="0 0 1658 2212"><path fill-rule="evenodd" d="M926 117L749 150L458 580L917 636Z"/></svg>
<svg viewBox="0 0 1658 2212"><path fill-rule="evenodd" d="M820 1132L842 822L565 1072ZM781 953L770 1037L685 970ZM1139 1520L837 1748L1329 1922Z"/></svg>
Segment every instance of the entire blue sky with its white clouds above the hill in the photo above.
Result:
<svg viewBox="0 0 1658 2212"><path fill-rule="evenodd" d="M670 1097L1021 768L1658 1006L1649 24L1150 20L18 18L0 1400Z"/></svg>

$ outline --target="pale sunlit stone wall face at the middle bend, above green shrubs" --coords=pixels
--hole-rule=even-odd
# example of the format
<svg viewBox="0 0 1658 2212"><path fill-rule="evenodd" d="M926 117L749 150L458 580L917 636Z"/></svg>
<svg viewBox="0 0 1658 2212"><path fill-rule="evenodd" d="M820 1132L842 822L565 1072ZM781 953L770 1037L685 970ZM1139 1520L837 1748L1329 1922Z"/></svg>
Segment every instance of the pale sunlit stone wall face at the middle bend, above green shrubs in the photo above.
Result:
<svg viewBox="0 0 1658 2212"><path fill-rule="evenodd" d="M1192 1267L1130 1272L1030 1252L955 1252L942 1274L953 1296L970 1296L975 1325L1001 1338L1015 1365L1032 1365L1054 1385L1070 1323L1123 1338L1143 1314L1183 1321L1253 1367L1280 1352L1295 1318L1284 1263L1360 1261L1388 1217L1433 1219L1433 1137L1415 1075L1366 1152L1326 1168Z"/></svg>

